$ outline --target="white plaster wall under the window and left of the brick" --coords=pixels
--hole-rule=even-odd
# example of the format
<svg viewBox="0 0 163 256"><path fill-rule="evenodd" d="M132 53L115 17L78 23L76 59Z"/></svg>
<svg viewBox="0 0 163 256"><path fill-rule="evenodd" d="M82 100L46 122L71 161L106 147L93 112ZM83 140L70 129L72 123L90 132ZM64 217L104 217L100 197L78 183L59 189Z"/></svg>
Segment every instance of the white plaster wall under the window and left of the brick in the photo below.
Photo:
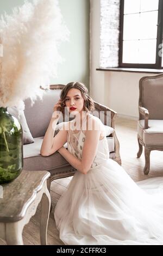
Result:
<svg viewBox="0 0 163 256"><path fill-rule="evenodd" d="M96 71L99 68L99 28L100 0L91 0L91 96L119 115L138 117L139 80L143 76L154 74Z"/></svg>

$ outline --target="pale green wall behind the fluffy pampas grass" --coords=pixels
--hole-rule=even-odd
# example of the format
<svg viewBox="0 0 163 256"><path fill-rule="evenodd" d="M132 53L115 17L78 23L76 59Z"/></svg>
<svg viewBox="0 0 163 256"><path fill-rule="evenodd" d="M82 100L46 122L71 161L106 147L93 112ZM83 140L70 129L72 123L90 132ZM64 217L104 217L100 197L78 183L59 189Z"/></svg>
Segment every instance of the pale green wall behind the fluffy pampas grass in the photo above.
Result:
<svg viewBox="0 0 163 256"><path fill-rule="evenodd" d="M11 13L23 0L0 0L0 14ZM32 0L29 0L32 2ZM58 67L58 78L51 83L84 82L89 88L89 0L59 0L61 13L70 31L70 42L63 42L60 54L65 62Z"/></svg>

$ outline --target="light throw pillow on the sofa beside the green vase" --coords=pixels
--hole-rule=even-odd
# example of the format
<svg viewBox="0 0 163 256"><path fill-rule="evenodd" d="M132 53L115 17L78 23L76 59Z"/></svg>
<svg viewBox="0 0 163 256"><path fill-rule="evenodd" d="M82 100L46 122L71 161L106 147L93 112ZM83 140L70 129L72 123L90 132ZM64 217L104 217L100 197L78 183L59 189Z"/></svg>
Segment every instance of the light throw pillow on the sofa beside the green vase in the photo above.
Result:
<svg viewBox="0 0 163 256"><path fill-rule="evenodd" d="M34 142L34 138L32 137L32 134L30 133L26 117L24 115L23 110L19 110L16 107L8 107L8 112L11 115L14 115L14 117L17 118L17 120L20 122L23 130L23 144L29 144Z"/></svg>

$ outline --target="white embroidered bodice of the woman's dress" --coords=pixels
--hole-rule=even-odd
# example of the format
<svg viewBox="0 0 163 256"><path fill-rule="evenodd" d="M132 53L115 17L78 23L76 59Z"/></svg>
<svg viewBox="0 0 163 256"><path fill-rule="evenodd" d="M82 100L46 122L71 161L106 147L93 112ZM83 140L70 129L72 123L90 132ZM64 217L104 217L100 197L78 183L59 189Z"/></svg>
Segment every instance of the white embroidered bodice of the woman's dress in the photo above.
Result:
<svg viewBox="0 0 163 256"><path fill-rule="evenodd" d="M97 121L101 122L101 120L99 120L98 118L97 118ZM103 124L101 122L101 127L102 126ZM70 151L70 153L76 156L79 160L82 160L82 151L83 151L85 136L86 136L85 132L86 131L83 131L83 130L74 132L73 130L71 130L71 128L68 130L68 135L67 135L68 151ZM93 160L91 168L98 166L98 164L100 164L103 160L106 160L106 159L109 159L109 148L108 148L108 142L107 142L106 136L103 136L102 139L99 139L98 146L97 146L97 153L96 153L95 159Z"/></svg>

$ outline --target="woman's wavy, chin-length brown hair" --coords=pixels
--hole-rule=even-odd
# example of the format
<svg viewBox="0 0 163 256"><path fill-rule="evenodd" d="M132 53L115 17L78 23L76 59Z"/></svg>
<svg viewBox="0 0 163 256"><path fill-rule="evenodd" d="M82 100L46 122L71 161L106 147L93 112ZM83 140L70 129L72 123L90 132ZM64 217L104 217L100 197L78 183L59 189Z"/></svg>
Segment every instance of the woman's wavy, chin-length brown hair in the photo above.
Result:
<svg viewBox="0 0 163 256"><path fill-rule="evenodd" d="M93 111L95 109L94 102L93 102L92 98L90 97L89 92L88 92L85 84L81 83L81 82L71 82L71 83L68 83L65 86L64 89L62 89L61 94L60 94L62 113L64 114L64 112L65 112L65 106L66 106L65 98L66 98L66 95L67 95L68 91L72 88L80 90L80 92L82 94L82 97L84 99L83 110L86 111L86 112Z"/></svg>

